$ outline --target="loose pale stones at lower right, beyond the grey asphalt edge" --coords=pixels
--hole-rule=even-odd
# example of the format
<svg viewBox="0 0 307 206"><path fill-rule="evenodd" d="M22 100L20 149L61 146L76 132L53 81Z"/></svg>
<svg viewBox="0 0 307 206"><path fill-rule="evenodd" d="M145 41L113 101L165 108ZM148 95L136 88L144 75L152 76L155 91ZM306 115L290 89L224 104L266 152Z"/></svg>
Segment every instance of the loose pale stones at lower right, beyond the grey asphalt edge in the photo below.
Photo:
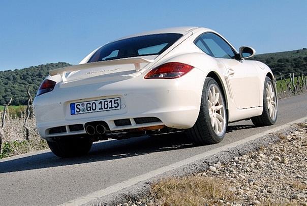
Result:
<svg viewBox="0 0 307 206"><path fill-rule="evenodd" d="M234 157L227 164L217 162L196 175L223 181L233 198L210 199L216 205L307 205L307 123L289 134L279 134L278 143ZM159 184L159 183L158 183ZM176 188L170 188L175 190ZM169 205L159 194L118 205ZM185 205L182 202L182 205Z"/></svg>

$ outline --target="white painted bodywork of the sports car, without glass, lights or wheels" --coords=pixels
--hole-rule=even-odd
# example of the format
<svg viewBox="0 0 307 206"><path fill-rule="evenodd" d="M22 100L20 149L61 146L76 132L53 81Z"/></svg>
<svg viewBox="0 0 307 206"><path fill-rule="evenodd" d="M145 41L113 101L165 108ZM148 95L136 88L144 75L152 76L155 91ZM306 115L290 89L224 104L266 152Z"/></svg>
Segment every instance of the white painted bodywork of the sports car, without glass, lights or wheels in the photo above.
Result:
<svg viewBox="0 0 307 206"><path fill-rule="evenodd" d="M53 76L46 79L57 82L53 91L37 96L34 101L40 135L49 138L85 134L85 130L70 131L69 125L84 125L93 121L106 122L110 131L157 125L189 129L193 127L199 114L203 83L207 75L213 73L219 78L225 93L229 122L260 115L264 79L267 74L274 78L271 70L256 61L229 60L207 55L193 43L205 32L218 34L207 28L176 27L125 37L163 33L183 34L162 54L142 56L152 62L140 63L138 71L134 64L86 64L99 47L80 62L79 71L73 69L65 75L66 81L63 81L60 74L51 72ZM176 79L144 78L151 69L168 62L185 63L194 69ZM96 66L88 66L90 64ZM233 76L230 75L229 69L234 71ZM70 114L70 103L116 97L121 99L119 110ZM161 122L136 124L134 121L136 117L148 116L158 117ZM118 119L130 119L131 125L115 126L114 120ZM59 126L65 126L67 131L49 134L50 128Z"/></svg>

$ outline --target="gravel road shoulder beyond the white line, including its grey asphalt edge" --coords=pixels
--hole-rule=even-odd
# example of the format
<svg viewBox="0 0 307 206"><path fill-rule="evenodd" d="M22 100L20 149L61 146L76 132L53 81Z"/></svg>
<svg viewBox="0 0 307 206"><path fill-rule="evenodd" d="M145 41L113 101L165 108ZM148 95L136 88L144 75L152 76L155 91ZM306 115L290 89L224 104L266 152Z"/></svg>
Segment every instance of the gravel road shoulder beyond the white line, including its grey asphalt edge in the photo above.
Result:
<svg viewBox="0 0 307 206"><path fill-rule="evenodd" d="M194 176L200 178L200 181L212 179L216 180L215 182L222 181L232 194L231 198L223 198L213 193L211 197L210 194L206 194L209 195L206 198L199 195L198 197L204 200L203 203L307 205L306 168L307 122L292 125L278 133L269 134L210 156L192 165L158 176L154 180L139 183L118 194L109 195L104 200L91 202L91 205L93 203L96 205L178 205L178 202L167 199L174 194L173 192L178 193L176 191L178 186L169 185L169 180L172 179L174 182L175 178L181 183ZM165 188L165 186L169 191L164 190L163 194L156 189L157 187ZM184 194L191 194L189 192L193 193L193 191L182 190L181 187L182 198ZM187 205L187 202L182 202L181 205Z"/></svg>

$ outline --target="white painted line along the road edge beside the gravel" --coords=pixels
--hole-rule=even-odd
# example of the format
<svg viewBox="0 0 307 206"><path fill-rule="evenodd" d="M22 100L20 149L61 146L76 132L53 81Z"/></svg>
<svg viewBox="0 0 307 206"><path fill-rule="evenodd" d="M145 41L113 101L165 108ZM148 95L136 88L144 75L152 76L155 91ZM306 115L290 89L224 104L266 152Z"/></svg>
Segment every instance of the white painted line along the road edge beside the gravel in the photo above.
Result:
<svg viewBox="0 0 307 206"><path fill-rule="evenodd" d="M159 169L156 169L156 170L152 170L150 172L147 172L145 174L141 174L139 176L136 176L135 178L131 178L129 180L126 180L126 181L123 181L121 183L117 183L115 185L112 185L110 187L107 187L105 189L102 189L102 190L98 190L98 191L95 191L93 193L90 193L90 194L87 194L87 195L84 195L82 197L78 197L74 200L70 200L68 202L65 202L63 204L60 204L60 205L72 205L72 206L75 206L75 205L82 205L82 204L86 204L90 201L93 201L93 200L96 200L96 199L99 199L101 197L104 197L106 195L109 195L109 194L112 194L114 192L117 192L119 190L122 190L122 189L125 189L127 187L130 187L130 186L133 186L139 182L142 182L142 181L146 181L150 178L153 178L154 176L157 176L159 174L162 174L162 173L165 173L167 171L170 171L170 170L173 170L173 169L176 169L176 168L179 168L181 166L185 166L187 164L191 164L195 161L198 161L198 160L201 160L203 158L206 158L208 156L211 156L211 155L214 155L214 154L217 154L221 151L225 151L227 149L230 149L230 148L234 148L235 146L238 146L240 144L243 144L243 143L246 143L246 142L249 142L251 140L255 140L255 139L258 139L264 135L267 135L269 133L272 133L272 132L277 132L279 130L282 130L282 129L285 129L287 127L289 127L290 125L294 124L294 123L299 123L299 122L303 122L304 120L307 119L307 116L306 117L303 117L301 119L298 119L298 120L295 120L293 122L290 122L290 123L287 123L285 125L282 125L282 126L279 126L279 127L275 127L273 129L270 129L270 130L267 130L267 131L264 131L264 132L261 132L259 134L255 134L255 135L252 135L252 136L249 136L247 138L244 138L244 139L241 139L241 140L238 140L238 141L235 141L233 143L230 143L230 144L227 144L227 145L224 145L224 146L221 146L220 148L217 148L217 149L213 149L213 150L210 150L208 152L205 152L205 153L202 153L202 154L199 154L199 155L195 155L193 157L190 157L190 158L187 158L185 160L181 160L179 162L176 162L176 163L173 163L173 164L170 164L168 166L164 166L164 167L161 167Z"/></svg>

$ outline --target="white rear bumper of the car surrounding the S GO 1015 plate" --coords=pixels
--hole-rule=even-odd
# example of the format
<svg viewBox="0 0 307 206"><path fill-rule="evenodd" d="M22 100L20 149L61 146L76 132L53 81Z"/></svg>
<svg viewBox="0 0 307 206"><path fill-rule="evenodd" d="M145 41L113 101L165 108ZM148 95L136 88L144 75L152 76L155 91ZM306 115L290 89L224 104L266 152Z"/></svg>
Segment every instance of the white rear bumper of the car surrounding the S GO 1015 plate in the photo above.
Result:
<svg viewBox="0 0 307 206"><path fill-rule="evenodd" d="M95 121L104 121L110 131L158 125L188 129L198 117L204 78L204 73L195 68L172 80L135 77L88 85L57 84L52 92L35 98L37 128L43 138L85 134L84 125ZM195 81L191 82L191 79ZM120 98L119 110L70 113L70 103L115 97ZM135 121L137 117L156 117L161 121L139 123ZM116 126L116 120L122 119L129 119L131 124ZM82 125L83 129L72 130L71 125ZM62 130L50 133L51 128L57 127L62 127Z"/></svg>

